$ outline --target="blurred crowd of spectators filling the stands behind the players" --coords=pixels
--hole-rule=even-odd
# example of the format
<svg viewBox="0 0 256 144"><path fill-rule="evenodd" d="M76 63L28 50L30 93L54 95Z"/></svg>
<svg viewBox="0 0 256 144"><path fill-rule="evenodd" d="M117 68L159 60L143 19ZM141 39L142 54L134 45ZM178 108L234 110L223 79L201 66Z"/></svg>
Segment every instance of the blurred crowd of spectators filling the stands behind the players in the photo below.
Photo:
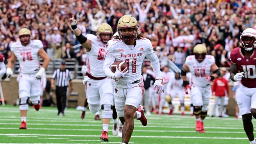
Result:
<svg viewBox="0 0 256 144"><path fill-rule="evenodd" d="M139 33L149 38L161 66L172 60L179 68L193 46L204 43L219 67L229 67L229 52L239 46L240 32L256 29L255 0L1 0L0 53L5 62L17 33L29 28L51 59L77 60L83 65L85 50L77 47L68 23L72 13L84 35L96 34L100 23L116 32L125 14L137 18Z"/></svg>

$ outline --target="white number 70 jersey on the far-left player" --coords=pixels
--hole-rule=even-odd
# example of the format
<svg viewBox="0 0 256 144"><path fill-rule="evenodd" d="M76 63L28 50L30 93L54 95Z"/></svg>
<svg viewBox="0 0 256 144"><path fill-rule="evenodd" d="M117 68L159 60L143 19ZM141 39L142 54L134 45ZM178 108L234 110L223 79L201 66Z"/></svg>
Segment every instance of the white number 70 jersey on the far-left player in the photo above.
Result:
<svg viewBox="0 0 256 144"><path fill-rule="evenodd" d="M21 42L15 42L11 45L11 51L14 52L20 63L21 74L37 73L40 69L40 59L38 51L43 48L43 43L38 40L31 40L30 43L24 47Z"/></svg>

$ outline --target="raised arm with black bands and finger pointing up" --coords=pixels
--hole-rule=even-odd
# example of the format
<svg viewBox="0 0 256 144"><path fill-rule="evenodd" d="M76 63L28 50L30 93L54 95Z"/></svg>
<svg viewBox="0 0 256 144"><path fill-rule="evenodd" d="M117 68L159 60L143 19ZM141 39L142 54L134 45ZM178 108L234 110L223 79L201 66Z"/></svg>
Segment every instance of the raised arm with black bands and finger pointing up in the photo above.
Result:
<svg viewBox="0 0 256 144"><path fill-rule="evenodd" d="M74 14L72 14L72 17L69 18L68 21L70 22L73 33L75 34L79 43L82 45L82 47L86 49L87 52L89 52L91 50L92 43L89 39L87 39L84 35L82 35L81 31L76 26L76 20L75 20Z"/></svg>

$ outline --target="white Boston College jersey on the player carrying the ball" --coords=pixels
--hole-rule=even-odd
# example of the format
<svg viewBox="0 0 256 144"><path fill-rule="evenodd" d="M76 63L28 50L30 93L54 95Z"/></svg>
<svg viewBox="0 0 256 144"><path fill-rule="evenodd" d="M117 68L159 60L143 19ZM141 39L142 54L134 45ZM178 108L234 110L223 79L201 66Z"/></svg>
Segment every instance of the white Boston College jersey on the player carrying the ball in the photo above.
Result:
<svg viewBox="0 0 256 144"><path fill-rule="evenodd" d="M150 40L147 38L136 39L136 45L132 49L123 41L113 39L108 41L107 53L112 55L116 61L128 64L129 71L122 79L118 80L118 84L131 84L133 81L140 80L143 60L154 51ZM150 55L150 59L158 58L156 55Z"/></svg>

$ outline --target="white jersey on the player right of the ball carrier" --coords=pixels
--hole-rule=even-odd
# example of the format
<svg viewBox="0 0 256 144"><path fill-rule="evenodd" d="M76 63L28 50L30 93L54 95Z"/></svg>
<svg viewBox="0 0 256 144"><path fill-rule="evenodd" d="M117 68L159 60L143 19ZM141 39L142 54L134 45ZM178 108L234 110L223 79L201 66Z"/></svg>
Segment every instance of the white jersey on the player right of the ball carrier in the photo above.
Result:
<svg viewBox="0 0 256 144"><path fill-rule="evenodd" d="M215 59L212 55L206 55L206 58L199 63L194 55L189 55L186 58L185 63L191 72L191 84L206 87L210 84L209 81L206 81L206 75L210 75L210 67L215 63Z"/></svg>

